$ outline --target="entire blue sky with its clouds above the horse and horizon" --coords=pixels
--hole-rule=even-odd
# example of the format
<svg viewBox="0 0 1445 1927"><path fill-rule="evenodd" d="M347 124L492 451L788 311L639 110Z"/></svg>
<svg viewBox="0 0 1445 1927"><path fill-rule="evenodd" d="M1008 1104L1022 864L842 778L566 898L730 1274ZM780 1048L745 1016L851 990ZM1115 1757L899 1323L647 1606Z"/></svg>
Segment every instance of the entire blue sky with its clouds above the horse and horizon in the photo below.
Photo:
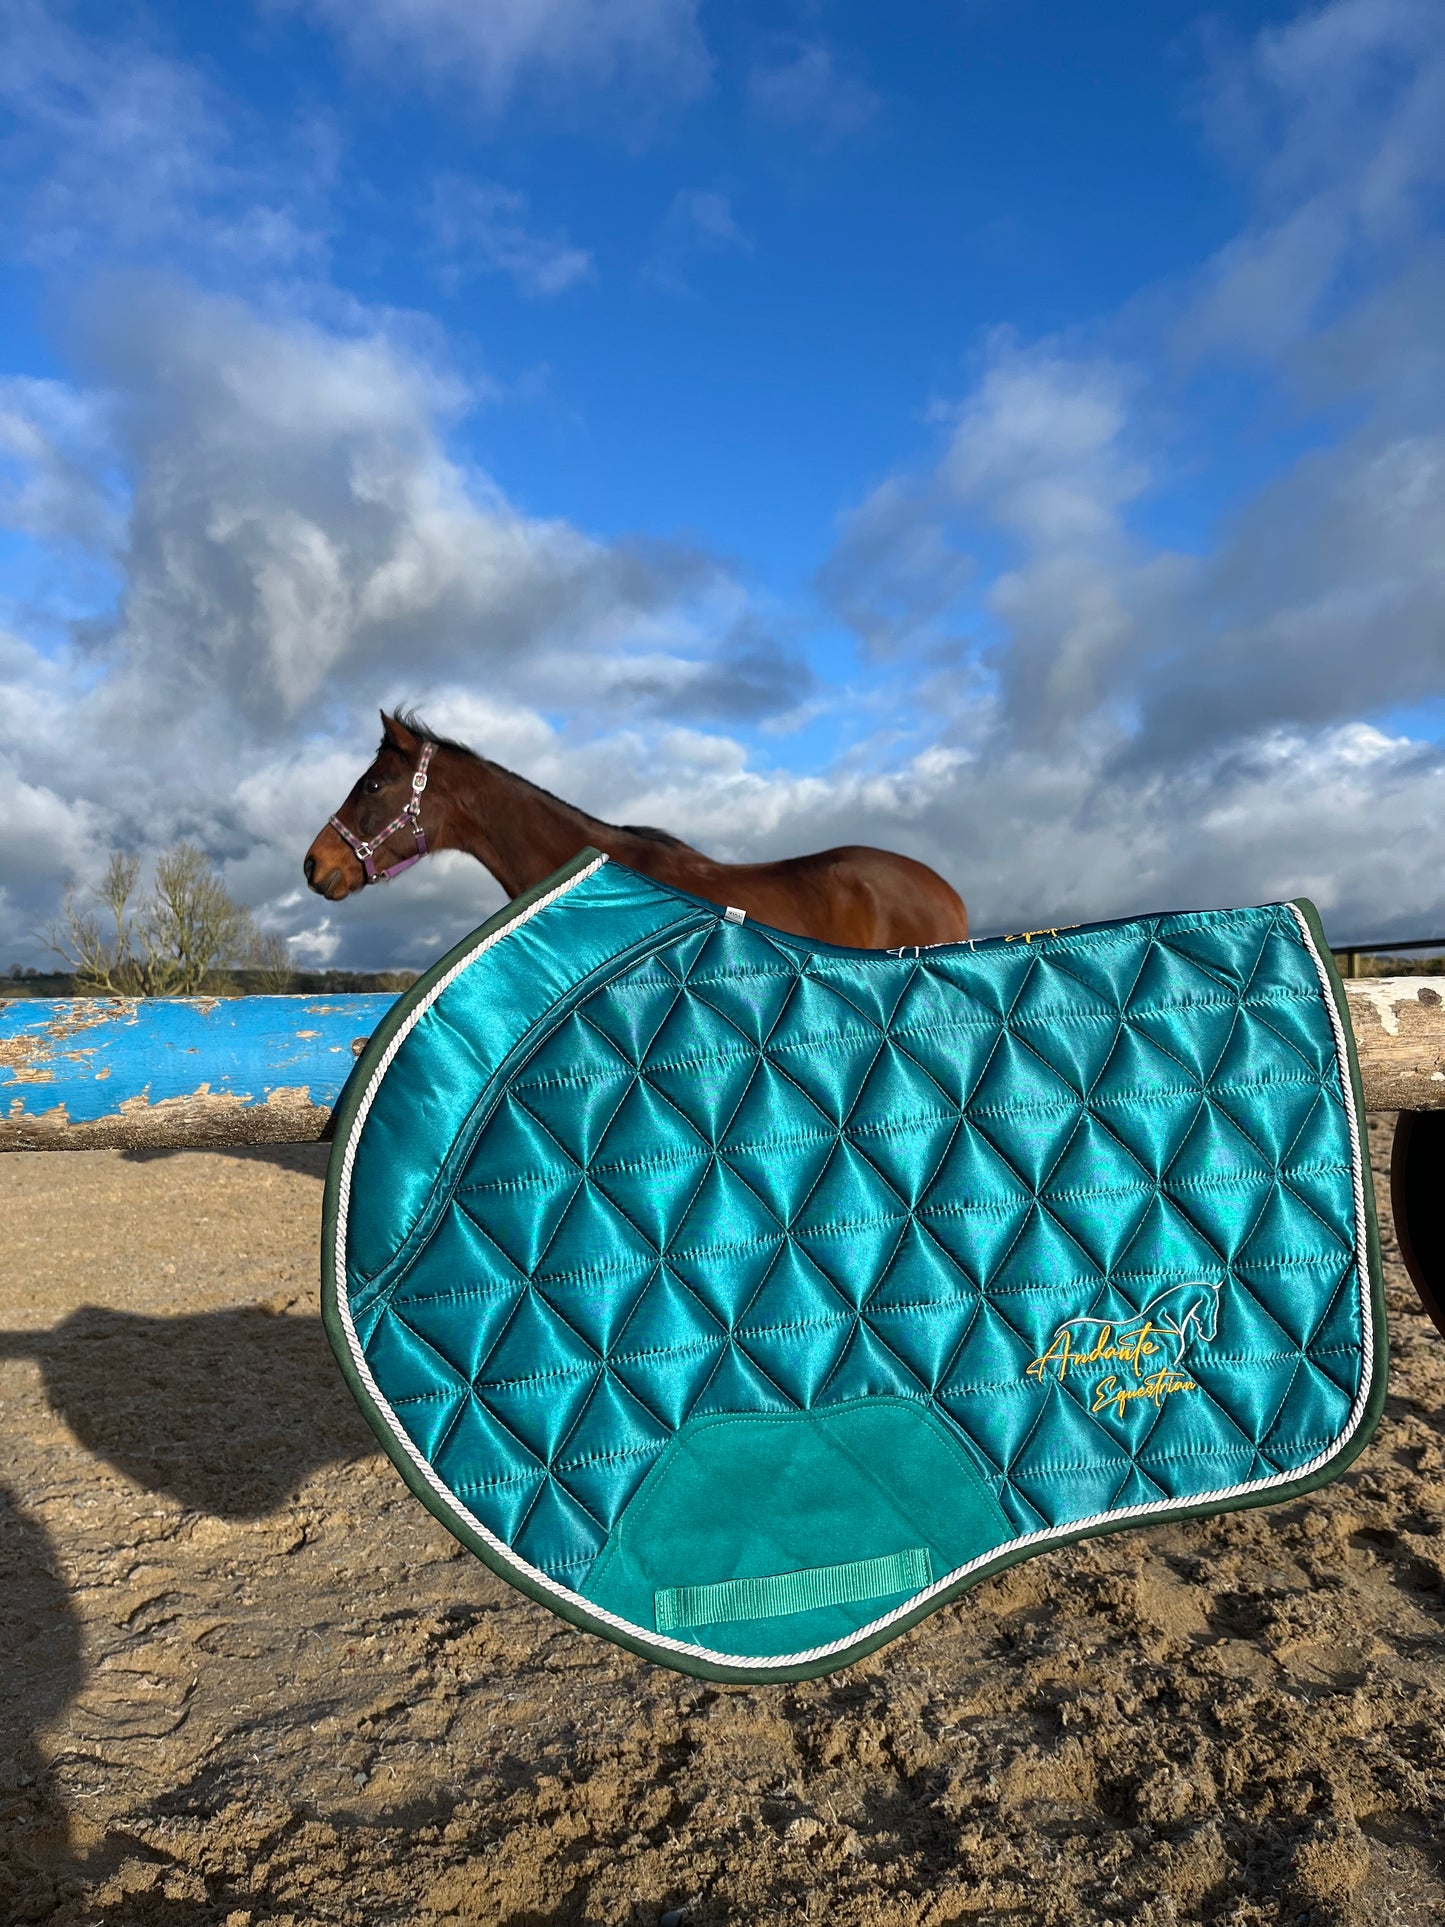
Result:
<svg viewBox="0 0 1445 1927"><path fill-rule="evenodd" d="M295 886L397 698L979 929L1445 917L1433 0L0 0L0 108L17 958L191 834L424 962L476 865Z"/></svg>

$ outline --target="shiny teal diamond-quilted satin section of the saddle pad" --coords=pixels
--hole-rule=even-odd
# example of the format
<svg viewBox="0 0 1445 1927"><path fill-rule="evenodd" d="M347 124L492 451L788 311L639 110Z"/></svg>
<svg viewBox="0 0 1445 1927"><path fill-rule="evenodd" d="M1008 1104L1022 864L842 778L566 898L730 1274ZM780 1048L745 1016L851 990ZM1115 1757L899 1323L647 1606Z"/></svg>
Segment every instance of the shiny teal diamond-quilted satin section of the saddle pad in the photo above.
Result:
<svg viewBox="0 0 1445 1927"><path fill-rule="evenodd" d="M561 1010L470 1129L364 1341L565 1584L705 1412L925 1401L1025 1532L1300 1466L1360 1384L1285 908L902 958L719 919ZM1141 1324L1164 1391L1117 1357Z"/></svg>

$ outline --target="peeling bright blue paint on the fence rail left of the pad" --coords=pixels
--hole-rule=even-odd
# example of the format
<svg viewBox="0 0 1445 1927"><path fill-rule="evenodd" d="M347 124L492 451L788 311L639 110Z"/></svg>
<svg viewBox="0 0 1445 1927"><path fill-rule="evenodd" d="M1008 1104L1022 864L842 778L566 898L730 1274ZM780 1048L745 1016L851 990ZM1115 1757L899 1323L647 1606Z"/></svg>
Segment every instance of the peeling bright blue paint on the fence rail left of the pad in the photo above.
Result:
<svg viewBox="0 0 1445 1927"><path fill-rule="evenodd" d="M15 998L0 1006L0 1120L91 1123L121 1106L274 1093L329 1110L393 996ZM301 1093L306 1093L304 1100Z"/></svg>

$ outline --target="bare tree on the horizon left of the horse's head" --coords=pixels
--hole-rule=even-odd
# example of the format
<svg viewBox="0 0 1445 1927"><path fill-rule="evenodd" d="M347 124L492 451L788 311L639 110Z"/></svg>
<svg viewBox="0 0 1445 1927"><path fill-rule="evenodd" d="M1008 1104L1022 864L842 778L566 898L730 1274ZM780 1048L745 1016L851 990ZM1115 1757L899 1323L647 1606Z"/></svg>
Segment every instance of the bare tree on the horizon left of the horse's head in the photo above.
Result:
<svg viewBox="0 0 1445 1927"><path fill-rule="evenodd" d="M112 996L195 996L225 965L254 960L262 969L281 967L283 938L270 942L260 935L204 850L171 844L156 859L150 896L133 904L139 879L141 859L114 850L94 890L106 917L83 908L73 888L66 890L60 919L44 942L75 971L77 989ZM285 965L289 969L289 956Z"/></svg>

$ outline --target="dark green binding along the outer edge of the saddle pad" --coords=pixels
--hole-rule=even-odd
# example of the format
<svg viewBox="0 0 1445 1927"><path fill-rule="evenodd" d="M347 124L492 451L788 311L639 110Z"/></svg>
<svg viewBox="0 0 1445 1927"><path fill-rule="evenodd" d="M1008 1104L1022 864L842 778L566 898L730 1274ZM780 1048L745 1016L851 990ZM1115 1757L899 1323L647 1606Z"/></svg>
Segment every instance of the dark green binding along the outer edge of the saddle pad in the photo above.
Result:
<svg viewBox="0 0 1445 1927"><path fill-rule="evenodd" d="M545 1605L559 1619L570 1621L570 1624L580 1626L584 1632L599 1634L611 1640L615 1646L622 1646L626 1651L638 1653L642 1659L651 1659L659 1665L672 1667L676 1673L690 1673L694 1678L713 1680L719 1684L771 1684L771 1682L790 1682L790 1680L809 1680L821 1678L827 1673L836 1673L842 1667L854 1665L857 1659L865 1659L875 1653L880 1646L888 1646L892 1640L902 1638L923 1619L940 1611L944 1605L952 1605L965 1592L971 1592L977 1584L992 1578L994 1572L1004 1572L1012 1565L1019 1565L1023 1559L1033 1559L1040 1551L1048 1551L1056 1545L1073 1545L1081 1540L1102 1538L1108 1532L1131 1532L1148 1524L1175 1524L1185 1518L1216 1518L1220 1513L1237 1513L1256 1505L1283 1505L1289 1499L1299 1499L1308 1491L1318 1491L1320 1486L1327 1486L1337 1478L1370 1443L1376 1426L1379 1424L1379 1414L1385 1405L1385 1384L1389 1370L1389 1345L1385 1333L1385 1287L1379 1260L1379 1222L1376 1216L1374 1181L1370 1174L1370 1129L1364 1112L1364 1085L1360 1083L1360 1064L1354 1050L1354 1031L1351 1029L1349 1004L1345 998L1345 989L1335 969L1335 960L1326 942L1324 925L1320 923L1320 913L1308 898L1295 898L1289 908L1297 910L1304 919L1310 933L1310 950L1314 962L1324 977L1333 998L1333 1008L1339 1017L1341 1035L1345 1039L1345 1056L1351 1073L1351 1098L1354 1104L1354 1123L1358 1135L1358 1154L1360 1154L1360 1195L1364 1199L1364 1220L1366 1220L1366 1262L1370 1272L1370 1349L1364 1357L1364 1364L1370 1368L1370 1391L1366 1397L1366 1407L1360 1420L1345 1441L1345 1445L1326 1459L1324 1465L1316 1466L1302 1478L1291 1480L1281 1486L1268 1486L1256 1491L1243 1491L1233 1499L1212 1501L1202 1505L1171 1505L1160 1509L1158 1513L1144 1513L1143 1517L1129 1518L1106 1518L1096 1524L1079 1526L1069 1532L1067 1528L1060 1532L1050 1532L1046 1538L1031 1538L1027 1544L1015 1544L1002 1551L996 1559L990 1559L971 1572L965 1572L954 1586L944 1592L931 1594L917 1607L900 1613L875 1632L861 1636L848 1646L827 1653L821 1659L811 1659L801 1665L769 1665L767 1661L759 1665L736 1667L722 1661L707 1659L696 1653L680 1653L674 1648L659 1646L642 1636L624 1630L617 1624L601 1621L588 1613L580 1603L574 1605L570 1597L559 1597L545 1586L539 1586L520 1569L520 1563L512 1565L503 1559L495 1547L487 1545L484 1538L464 1520L441 1493L430 1486L416 1463L412 1461L407 1445L393 1432L387 1418L376 1407L366 1386L356 1374L355 1360L351 1357L351 1347L347 1343L345 1326L341 1322L341 1312L335 1299L335 1231L337 1231L337 1206L341 1197L341 1164L345 1156L347 1139L351 1137L356 1110L360 1108L362 1095L372 1079L381 1054L385 1052L391 1039L397 1035L401 1025L407 1021L408 1014L416 1004L432 990L432 987L457 964L464 962L476 946L497 931L505 931L511 923L538 902L538 898L547 896L557 890L559 884L566 883L578 871L586 869L590 863L597 861L601 852L586 848L565 863L561 869L553 871L551 877L543 877L534 888L522 892L522 896L512 898L511 904L503 906L493 917L487 917L484 925L462 938L453 950L449 950L437 964L426 971L424 977L407 990L381 1019L380 1027L372 1033L366 1050L356 1062L351 1077L347 1079L341 1096L337 1098L335 1112L331 1116L331 1160L326 1172L326 1201L322 1206L322 1322L326 1326L326 1335L331 1341L331 1351L335 1353L337 1364L341 1366L341 1376L347 1380L353 1397L362 1409L366 1422L381 1443L383 1451L391 1463L401 1472L408 1490L420 1503L432 1513L441 1524L457 1538L470 1553L474 1553L486 1567L489 1567L497 1578L507 1580L526 1597L534 1599L538 1605ZM686 892L670 890L667 884L657 884L667 896L684 896ZM692 902L697 902L692 898ZM717 908L717 906L707 906ZM721 921L722 911L717 910Z"/></svg>

